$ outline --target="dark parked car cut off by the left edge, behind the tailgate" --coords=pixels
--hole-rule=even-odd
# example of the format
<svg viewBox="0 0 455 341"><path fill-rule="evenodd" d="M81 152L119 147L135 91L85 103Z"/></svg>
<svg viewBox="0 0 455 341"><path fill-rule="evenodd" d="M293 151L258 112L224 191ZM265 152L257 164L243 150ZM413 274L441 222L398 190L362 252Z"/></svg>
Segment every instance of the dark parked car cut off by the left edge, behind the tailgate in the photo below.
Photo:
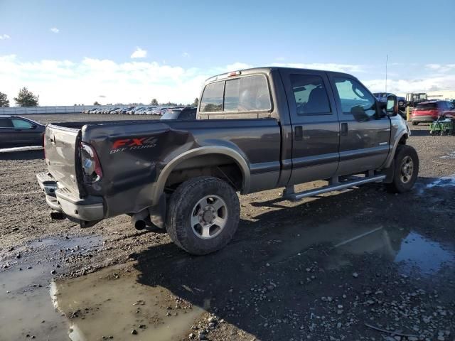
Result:
<svg viewBox="0 0 455 341"><path fill-rule="evenodd" d="M0 115L0 148L43 146L45 126L31 119Z"/></svg>

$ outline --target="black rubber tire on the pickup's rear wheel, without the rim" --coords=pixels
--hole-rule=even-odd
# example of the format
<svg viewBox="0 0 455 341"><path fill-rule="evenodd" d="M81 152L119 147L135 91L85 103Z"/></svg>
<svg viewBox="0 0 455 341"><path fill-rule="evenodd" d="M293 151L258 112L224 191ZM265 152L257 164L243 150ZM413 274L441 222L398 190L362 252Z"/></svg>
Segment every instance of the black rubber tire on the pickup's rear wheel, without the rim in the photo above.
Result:
<svg viewBox="0 0 455 341"><path fill-rule="evenodd" d="M208 195L221 197L227 207L227 222L218 235L201 239L193 231L191 216L198 201ZM203 255L225 247L234 237L240 218L240 203L234 188L218 178L198 177L181 183L171 195L166 230L172 241L190 254Z"/></svg>

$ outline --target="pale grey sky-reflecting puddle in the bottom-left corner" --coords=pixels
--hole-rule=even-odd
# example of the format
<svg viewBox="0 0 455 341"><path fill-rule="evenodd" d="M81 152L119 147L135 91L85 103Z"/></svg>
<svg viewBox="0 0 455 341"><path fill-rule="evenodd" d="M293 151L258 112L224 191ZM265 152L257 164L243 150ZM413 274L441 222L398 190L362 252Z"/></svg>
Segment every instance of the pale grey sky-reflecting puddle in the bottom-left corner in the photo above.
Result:
<svg viewBox="0 0 455 341"><path fill-rule="evenodd" d="M83 253L101 238L42 239L18 248L20 258L0 272L0 340L69 340L68 322L49 296L51 271L63 271L62 257ZM61 264L61 265L60 265ZM57 267L60 266L59 268Z"/></svg>

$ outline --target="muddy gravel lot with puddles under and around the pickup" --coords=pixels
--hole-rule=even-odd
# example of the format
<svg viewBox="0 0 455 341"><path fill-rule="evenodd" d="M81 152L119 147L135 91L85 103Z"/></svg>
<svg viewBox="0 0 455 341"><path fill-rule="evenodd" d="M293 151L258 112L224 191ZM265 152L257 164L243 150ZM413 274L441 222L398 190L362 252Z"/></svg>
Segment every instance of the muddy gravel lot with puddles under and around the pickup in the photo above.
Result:
<svg viewBox="0 0 455 341"><path fill-rule="evenodd" d="M0 153L0 340L455 340L455 136L427 128L411 193L245 195L233 241L199 257L126 216L50 220L43 152Z"/></svg>

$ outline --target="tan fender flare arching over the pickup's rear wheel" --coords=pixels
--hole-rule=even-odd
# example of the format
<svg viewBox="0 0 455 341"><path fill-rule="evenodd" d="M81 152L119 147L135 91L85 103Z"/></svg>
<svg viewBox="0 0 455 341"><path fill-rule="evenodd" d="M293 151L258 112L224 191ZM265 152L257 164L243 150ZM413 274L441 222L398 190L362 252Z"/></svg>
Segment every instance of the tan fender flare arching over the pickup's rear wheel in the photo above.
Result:
<svg viewBox="0 0 455 341"><path fill-rule="evenodd" d="M156 185L154 186L154 193L152 194L152 202L154 205L158 204L161 195L164 193L166 180L178 164L195 156L208 154L221 154L232 158L235 163L237 163L237 166L239 166L240 171L242 171L242 193L248 193L250 188L250 167L245 158L232 148L225 146L205 146L181 153L166 164L161 173L159 173Z"/></svg>

